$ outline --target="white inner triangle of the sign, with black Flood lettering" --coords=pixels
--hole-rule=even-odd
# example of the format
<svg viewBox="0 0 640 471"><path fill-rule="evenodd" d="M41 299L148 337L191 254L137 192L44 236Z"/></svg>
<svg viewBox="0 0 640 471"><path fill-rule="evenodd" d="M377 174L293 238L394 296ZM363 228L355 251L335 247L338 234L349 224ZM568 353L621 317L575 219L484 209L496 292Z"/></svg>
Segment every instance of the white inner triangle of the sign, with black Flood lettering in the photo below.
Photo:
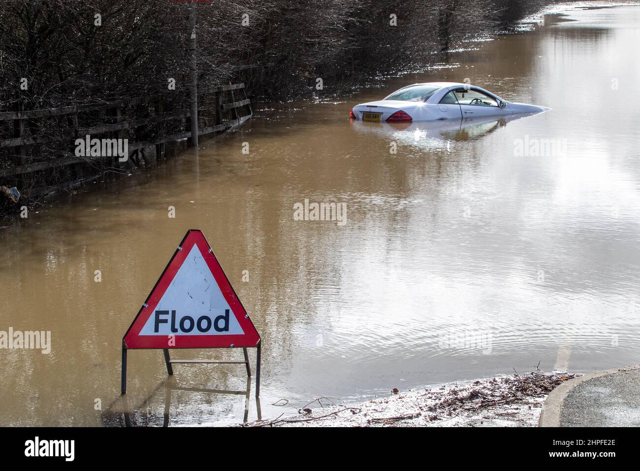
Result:
<svg viewBox="0 0 640 471"><path fill-rule="evenodd" d="M145 322L143 335L243 335L198 245Z"/></svg>

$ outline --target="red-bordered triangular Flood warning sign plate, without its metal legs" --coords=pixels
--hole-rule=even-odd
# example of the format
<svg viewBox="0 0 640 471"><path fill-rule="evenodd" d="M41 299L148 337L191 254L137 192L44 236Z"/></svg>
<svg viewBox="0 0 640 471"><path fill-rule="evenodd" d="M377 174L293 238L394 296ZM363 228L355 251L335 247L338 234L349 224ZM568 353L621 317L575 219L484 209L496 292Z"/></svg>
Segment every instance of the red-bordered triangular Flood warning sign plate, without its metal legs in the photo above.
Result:
<svg viewBox="0 0 640 471"><path fill-rule="evenodd" d="M260 335L202 231L189 229L122 341L127 349L255 347Z"/></svg>

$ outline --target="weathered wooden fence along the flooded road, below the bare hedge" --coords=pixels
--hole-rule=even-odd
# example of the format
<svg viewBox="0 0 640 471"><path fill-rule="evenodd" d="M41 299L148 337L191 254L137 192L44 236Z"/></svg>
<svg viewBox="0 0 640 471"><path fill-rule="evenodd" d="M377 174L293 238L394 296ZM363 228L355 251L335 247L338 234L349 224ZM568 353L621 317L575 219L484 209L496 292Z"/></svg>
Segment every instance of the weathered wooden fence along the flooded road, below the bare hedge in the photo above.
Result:
<svg viewBox="0 0 640 471"><path fill-rule="evenodd" d="M237 96L239 94L243 95L242 99ZM211 99L214 104L207 106ZM198 135L225 131L252 115L243 83L198 90L198 104ZM104 156L78 157L70 151L76 138L86 135L92 139L127 138L134 163L138 156L136 151L155 146L156 158L160 160L164 157L167 142L191 136L188 107L188 100L175 99L167 94L0 113L3 129L12 135L0 139L0 178L24 179L25 174L31 172L104 159ZM241 116L243 108L248 110L248 114ZM50 119L56 123L44 124ZM35 151L38 146L40 150ZM42 147L55 151L43 153ZM47 154L53 154L53 158L47 158Z"/></svg>

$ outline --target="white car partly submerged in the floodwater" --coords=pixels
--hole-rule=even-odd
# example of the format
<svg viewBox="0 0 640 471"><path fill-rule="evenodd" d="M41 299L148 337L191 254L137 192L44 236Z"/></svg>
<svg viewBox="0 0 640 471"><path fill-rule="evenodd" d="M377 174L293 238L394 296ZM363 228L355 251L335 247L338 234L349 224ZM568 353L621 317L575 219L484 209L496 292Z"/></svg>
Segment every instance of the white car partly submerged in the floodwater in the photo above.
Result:
<svg viewBox="0 0 640 471"><path fill-rule="evenodd" d="M351 118L373 122L412 122L440 119L500 117L540 113L549 108L511 103L467 83L416 83L396 90L383 100L356 104Z"/></svg>

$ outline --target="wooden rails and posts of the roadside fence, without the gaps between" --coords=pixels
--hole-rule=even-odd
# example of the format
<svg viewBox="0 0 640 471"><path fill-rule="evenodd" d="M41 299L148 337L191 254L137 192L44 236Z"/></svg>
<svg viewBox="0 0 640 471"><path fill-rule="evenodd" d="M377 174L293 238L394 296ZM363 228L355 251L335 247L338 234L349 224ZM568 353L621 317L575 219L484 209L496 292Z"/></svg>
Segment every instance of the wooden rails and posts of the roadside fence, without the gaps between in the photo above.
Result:
<svg viewBox="0 0 640 471"><path fill-rule="evenodd" d="M234 94L234 90L243 92L244 99L238 100ZM206 113L201 115L200 111L198 111L198 119L204 122L203 127L198 126L198 135L225 131L236 126L236 124L241 124L252 115L251 101L246 95L244 83L230 83L218 87L204 88L198 90L198 95L200 95L204 101L213 98L215 102L211 107L203 107L204 110L215 110L214 117L207 117ZM170 98L172 98L170 95L149 95L111 102L0 113L0 121L3 122L3 128L13 130L12 137L0 140L0 149L2 149L0 152L9 154L10 157L11 154L13 154L13 159L15 160L13 167L0 167L0 177L20 176L38 170L46 170L63 165L72 165L92 159L97 160L104 158L104 156L93 158L77 157L68 154L68 151L65 151L65 149L71 147L69 143L72 139L75 141L76 138L81 138L86 135L90 135L92 138L100 135L116 135L118 138L123 138L125 131L131 129L136 131L138 128L148 125L156 125L153 133L154 136L149 138L147 132L147 135L140 140L138 140L138 136L136 136L135 140L129 139L128 150L131 153L155 145L157 157L161 158L164 156L164 144L191 136L189 120L186 119L191 116L191 112L186 109L188 108L188 102L186 99L172 101ZM198 101L200 102L200 99L198 99ZM153 106L148 106L147 109L141 108L137 110L138 114L141 113L143 116L135 116L129 119L124 118L124 109L126 107L150 104ZM174 109L165 112L165 108L167 107L173 107ZM239 110L243 107L248 108L248 114L241 116ZM85 124L84 127L81 126L81 122L84 120L84 114L95 114L95 112L104 112L105 117L109 117L109 119L115 120L115 122L97 125L88 123L93 125L87 126L87 124ZM231 112L231 117L225 120L223 116L224 112ZM151 113L153 113L153 115L150 115ZM59 132L56 135L47 135L45 131L38 133L40 120L65 116L68 117L68 123L61 132L60 129L57 129ZM93 116L92 119L95 121L99 118ZM209 126L209 120L214 120L215 126ZM8 123L5 125L4 122ZM170 122L173 123L173 126L167 126ZM32 124L33 126L26 126L26 124ZM179 128L179 132L166 133L167 128L172 128L173 131ZM34 129L36 132L34 132ZM141 134L145 133L143 132ZM43 161L29 162L29 160L34 160L33 157L28 156L31 146L52 142L60 144L61 153L65 155ZM0 161L0 164L1 163Z"/></svg>

